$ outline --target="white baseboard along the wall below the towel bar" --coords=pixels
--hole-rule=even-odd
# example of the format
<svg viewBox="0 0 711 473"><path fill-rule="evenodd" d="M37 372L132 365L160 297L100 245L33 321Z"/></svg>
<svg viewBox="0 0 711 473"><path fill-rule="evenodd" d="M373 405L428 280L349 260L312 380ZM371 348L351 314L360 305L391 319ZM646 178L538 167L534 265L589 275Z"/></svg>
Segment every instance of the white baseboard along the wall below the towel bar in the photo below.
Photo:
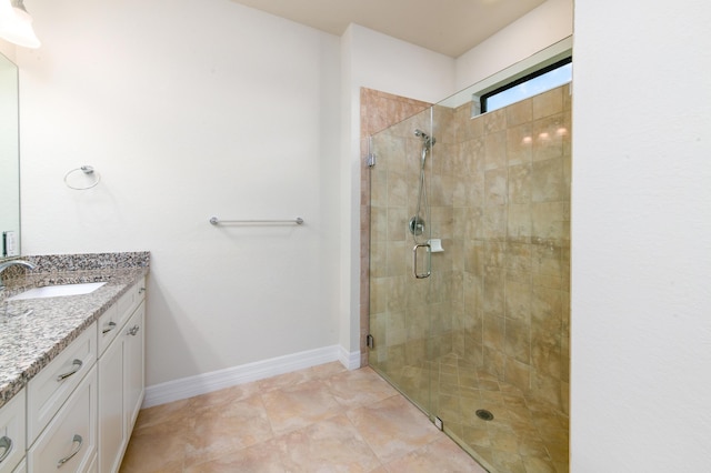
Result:
<svg viewBox="0 0 711 473"><path fill-rule="evenodd" d="M348 370L356 370L360 368L360 351L348 352L340 345L323 346L154 384L146 388L142 407L166 404L333 361L340 361Z"/></svg>

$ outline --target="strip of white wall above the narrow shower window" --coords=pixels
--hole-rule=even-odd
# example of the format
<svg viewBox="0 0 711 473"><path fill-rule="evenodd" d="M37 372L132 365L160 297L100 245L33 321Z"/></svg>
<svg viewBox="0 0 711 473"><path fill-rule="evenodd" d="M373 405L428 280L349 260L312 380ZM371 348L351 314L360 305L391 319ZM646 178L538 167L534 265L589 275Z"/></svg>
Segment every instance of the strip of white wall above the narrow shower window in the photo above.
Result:
<svg viewBox="0 0 711 473"><path fill-rule="evenodd" d="M542 3L457 58L455 91L570 37L573 33L572 18L573 0L548 0Z"/></svg>

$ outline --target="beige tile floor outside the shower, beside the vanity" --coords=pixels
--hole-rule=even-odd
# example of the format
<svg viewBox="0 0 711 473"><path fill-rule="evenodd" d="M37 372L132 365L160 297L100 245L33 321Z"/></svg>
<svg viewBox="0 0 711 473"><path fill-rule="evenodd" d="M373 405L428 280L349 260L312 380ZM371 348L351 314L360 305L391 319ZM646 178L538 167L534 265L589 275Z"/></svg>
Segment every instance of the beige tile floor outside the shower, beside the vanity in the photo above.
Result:
<svg viewBox="0 0 711 473"><path fill-rule="evenodd" d="M120 471L484 472L374 371L340 363L142 410Z"/></svg>

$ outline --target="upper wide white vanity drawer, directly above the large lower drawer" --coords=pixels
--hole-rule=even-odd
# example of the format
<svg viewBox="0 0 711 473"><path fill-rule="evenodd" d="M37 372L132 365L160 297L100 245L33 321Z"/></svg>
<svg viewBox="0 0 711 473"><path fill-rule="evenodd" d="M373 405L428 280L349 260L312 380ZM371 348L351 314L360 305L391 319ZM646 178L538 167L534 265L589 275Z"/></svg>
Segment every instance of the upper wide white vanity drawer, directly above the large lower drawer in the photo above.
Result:
<svg viewBox="0 0 711 473"><path fill-rule="evenodd" d="M94 323L30 380L27 386L28 445L34 442L96 361Z"/></svg>

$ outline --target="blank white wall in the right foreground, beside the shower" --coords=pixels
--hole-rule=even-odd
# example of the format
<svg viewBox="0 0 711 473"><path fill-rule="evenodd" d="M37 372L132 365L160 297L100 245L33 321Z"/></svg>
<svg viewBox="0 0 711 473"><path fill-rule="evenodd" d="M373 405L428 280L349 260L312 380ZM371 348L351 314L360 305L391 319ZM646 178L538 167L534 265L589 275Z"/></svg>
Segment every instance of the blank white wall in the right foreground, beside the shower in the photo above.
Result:
<svg viewBox="0 0 711 473"><path fill-rule="evenodd" d="M574 472L711 471L710 23L575 1Z"/></svg>

